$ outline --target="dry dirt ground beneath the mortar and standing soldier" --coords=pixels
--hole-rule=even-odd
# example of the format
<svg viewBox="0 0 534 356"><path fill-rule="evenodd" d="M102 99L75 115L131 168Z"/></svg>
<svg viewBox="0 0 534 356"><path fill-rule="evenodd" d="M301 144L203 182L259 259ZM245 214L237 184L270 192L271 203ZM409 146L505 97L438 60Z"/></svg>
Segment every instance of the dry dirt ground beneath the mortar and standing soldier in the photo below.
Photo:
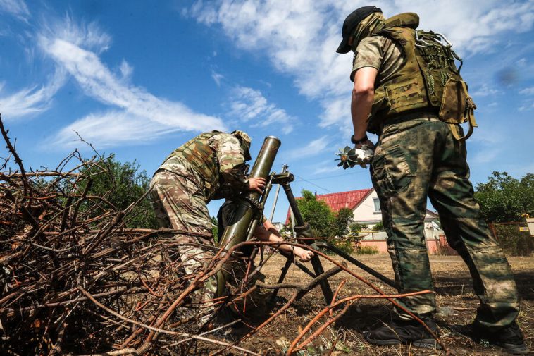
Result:
<svg viewBox="0 0 534 356"><path fill-rule="evenodd" d="M393 278L389 256L363 255L355 257L385 276ZM334 258L337 261L342 261L340 257ZM266 282L276 283L284 262L285 259L280 255L275 255L268 261L268 264L261 270L267 277ZM534 257L511 257L509 263L514 271L521 295L521 313L518 323L525 333L526 342L530 349L534 350ZM459 257L431 256L430 264L435 280L437 305L440 307L440 313L436 316L440 336L449 351L454 355L505 355L496 348L473 343L470 339L454 335L449 331L449 326L452 324L468 324L473 320L478 300L473 293L468 269ZM311 269L309 264L308 266ZM325 270L331 266L333 264L330 262L323 261ZM366 272L356 267L353 268L353 271L368 278L386 293L395 294L395 290L385 286L384 283L366 274ZM337 299L356 294L375 294L371 288L346 273L340 273L330 278L330 286L335 290L344 279L347 279L347 283L340 291ZM292 267L285 278L285 281L290 283L307 283L309 280L309 276L295 267ZM292 290L281 290L274 310L281 307L290 295L292 295ZM242 346L263 354L280 354L287 350L291 340L323 307L325 307L325 301L321 290L315 288L275 319L261 333L256 333L251 339L244 341ZM379 320L387 321L390 317L390 309L390 303L386 300L358 300L340 320L323 333L321 338L316 339L308 346L307 350L303 350L297 355L440 355L443 353L439 350L424 348L410 349L399 345L379 347L366 343L361 332L366 331ZM321 324L324 321L324 318L321 319ZM336 339L335 348L332 348L332 343ZM330 351L332 351L331 354L328 353Z"/></svg>

